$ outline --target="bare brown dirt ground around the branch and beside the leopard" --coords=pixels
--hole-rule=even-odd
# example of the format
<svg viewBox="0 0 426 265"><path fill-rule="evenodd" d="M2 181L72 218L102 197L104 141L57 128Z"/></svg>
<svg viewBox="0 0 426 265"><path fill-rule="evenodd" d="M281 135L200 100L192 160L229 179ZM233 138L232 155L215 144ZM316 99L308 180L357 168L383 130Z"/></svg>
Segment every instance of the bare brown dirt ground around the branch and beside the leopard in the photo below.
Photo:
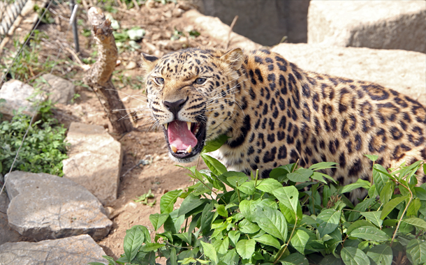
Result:
<svg viewBox="0 0 426 265"><path fill-rule="evenodd" d="M118 0L117 3L119 5L122 2ZM105 10L105 3L100 1L96 5ZM217 47L223 45L211 40L203 32L200 32L200 36L189 36L189 31L192 31L193 27L189 26L181 17L186 10L195 8L188 1L163 4L149 0L140 6L140 10L135 7L126 9L124 4L122 6L112 6L117 10L117 13L111 13L112 17L119 22L121 29L130 29L138 26L146 31L144 38L137 42L140 45L139 49L124 48L119 50L120 63L112 77L112 81L119 91L119 96L122 98L128 112L145 107L145 85L140 78L142 77L140 68L141 52L162 56L185 47L197 47L200 45ZM175 162L168 158L163 132L152 127L152 122L147 119L146 110L145 112L138 111L129 115L134 116L136 114L137 117L135 118L126 117L129 123L133 123L136 130L126 135L117 135L113 132L95 93L82 84L82 77L85 73L78 66L79 62L75 58L75 54L70 51L73 50L71 49L73 47L73 36L66 21L70 16L68 6L64 3L52 5L49 10L55 22L41 24L38 27L39 31L46 33L48 36L48 38L41 39L42 52L39 60L43 62L51 60L52 56L56 56L58 62L57 66L52 70L53 74L77 84L75 93L80 95L72 105L57 104L57 109L54 110L55 117L61 123L64 123L66 128L73 121L103 126L123 146L124 160L118 199L110 205L105 205L114 209L112 213L113 227L105 239L98 241L98 244L101 245L107 255L117 259L119 255L124 253L123 241L126 229L133 225L145 225L152 231L149 215L160 212L161 195L169 190L185 188L191 185L191 179L186 175L189 171L175 166ZM78 15L78 20L81 20L78 26L80 34L80 54L78 54L78 57L81 60L86 59L89 61L96 59L94 54L96 46L91 36L82 36L84 29L86 31L89 29L85 23L82 23L87 21L85 12ZM22 39L20 32L22 31L16 31L16 39ZM172 36L177 36L177 38L170 40ZM6 59L8 55L13 55L13 43L8 43L7 48L10 49L10 52L6 52L3 59L0 59L0 63L6 63L6 65L10 63L10 60ZM136 63L135 68L126 69L126 66L131 62ZM43 71L39 73L32 71L32 76L30 75L26 80L22 81L31 82L31 80L42 74ZM152 158L150 165L137 166L141 159L149 160L150 158ZM185 166L192 165L186 164ZM199 168L204 167L205 165L202 165L202 161L200 161ZM153 207L133 201L149 190L152 190L155 195L156 203ZM153 201L154 199L149 200L149 202Z"/></svg>

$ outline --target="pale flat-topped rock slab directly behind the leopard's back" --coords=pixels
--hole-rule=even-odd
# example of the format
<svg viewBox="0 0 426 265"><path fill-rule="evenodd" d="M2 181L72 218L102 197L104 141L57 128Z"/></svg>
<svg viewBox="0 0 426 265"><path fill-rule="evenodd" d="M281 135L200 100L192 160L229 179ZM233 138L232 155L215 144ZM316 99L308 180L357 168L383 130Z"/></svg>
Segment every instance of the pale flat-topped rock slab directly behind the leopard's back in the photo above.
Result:
<svg viewBox="0 0 426 265"><path fill-rule="evenodd" d="M426 105L426 54L287 43L272 51L304 70L381 84Z"/></svg>

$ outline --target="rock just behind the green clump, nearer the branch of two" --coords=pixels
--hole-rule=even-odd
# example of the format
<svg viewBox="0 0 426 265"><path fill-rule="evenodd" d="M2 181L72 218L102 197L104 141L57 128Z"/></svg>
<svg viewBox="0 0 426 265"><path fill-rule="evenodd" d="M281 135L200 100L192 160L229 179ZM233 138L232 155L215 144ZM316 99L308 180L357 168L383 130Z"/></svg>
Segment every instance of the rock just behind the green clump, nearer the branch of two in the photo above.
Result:
<svg viewBox="0 0 426 265"><path fill-rule="evenodd" d="M52 74L45 74L41 77L47 81L47 84L43 83L41 89L49 93L52 103L66 105L71 102L75 94L75 86L72 82Z"/></svg>

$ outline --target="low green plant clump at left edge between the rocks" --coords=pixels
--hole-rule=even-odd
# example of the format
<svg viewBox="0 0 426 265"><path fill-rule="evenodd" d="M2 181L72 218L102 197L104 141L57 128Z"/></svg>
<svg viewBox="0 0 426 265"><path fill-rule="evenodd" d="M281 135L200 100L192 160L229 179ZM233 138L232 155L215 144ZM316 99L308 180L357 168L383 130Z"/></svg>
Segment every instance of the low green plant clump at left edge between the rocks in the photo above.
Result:
<svg viewBox="0 0 426 265"><path fill-rule="evenodd" d="M39 107L41 119L31 125L23 143L22 139L29 127L31 116L16 114L11 121L0 123L1 174L9 172L17 149L22 143L13 170L64 175L62 160L68 158L67 144L64 142L66 129L59 126L57 120L52 118L50 100L40 103Z"/></svg>

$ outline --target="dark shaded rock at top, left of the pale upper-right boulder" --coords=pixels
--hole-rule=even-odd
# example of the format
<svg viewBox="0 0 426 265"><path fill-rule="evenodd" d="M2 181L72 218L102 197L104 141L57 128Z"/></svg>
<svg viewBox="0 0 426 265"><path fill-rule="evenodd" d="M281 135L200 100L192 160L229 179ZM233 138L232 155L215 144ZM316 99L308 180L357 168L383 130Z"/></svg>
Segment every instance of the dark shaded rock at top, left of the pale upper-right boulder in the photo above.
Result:
<svg viewBox="0 0 426 265"><path fill-rule="evenodd" d="M309 0L199 0L203 14L230 25L233 31L261 45L276 45L284 37L290 43L307 42ZM265 30L267 29L267 30Z"/></svg>

